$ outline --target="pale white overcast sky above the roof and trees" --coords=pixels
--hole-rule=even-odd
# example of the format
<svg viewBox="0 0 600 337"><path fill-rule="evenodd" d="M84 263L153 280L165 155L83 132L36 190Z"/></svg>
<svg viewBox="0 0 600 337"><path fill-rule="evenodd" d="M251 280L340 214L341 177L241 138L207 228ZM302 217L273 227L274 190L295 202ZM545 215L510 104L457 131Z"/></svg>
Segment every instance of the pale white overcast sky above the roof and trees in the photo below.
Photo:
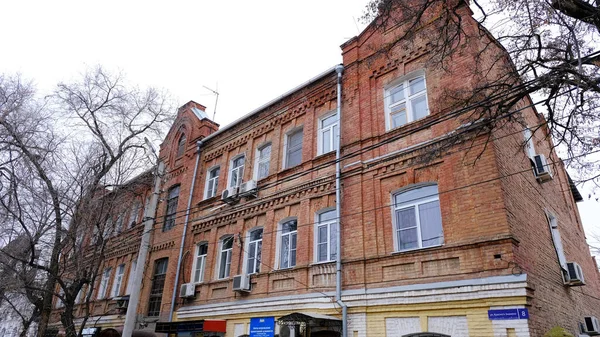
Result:
<svg viewBox="0 0 600 337"><path fill-rule="evenodd" d="M339 46L364 28L367 0L3 1L0 73L42 94L87 67L194 100L223 125L341 63ZM587 199L587 190L581 190ZM600 233L600 204L579 204Z"/></svg>

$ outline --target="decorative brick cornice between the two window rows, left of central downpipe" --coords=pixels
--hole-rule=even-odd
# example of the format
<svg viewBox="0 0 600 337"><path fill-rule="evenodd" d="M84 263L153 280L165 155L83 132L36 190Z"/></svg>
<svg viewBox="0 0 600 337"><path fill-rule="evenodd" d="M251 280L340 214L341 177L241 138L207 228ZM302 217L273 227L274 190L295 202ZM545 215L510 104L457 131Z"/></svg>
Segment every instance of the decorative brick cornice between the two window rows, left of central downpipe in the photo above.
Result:
<svg viewBox="0 0 600 337"><path fill-rule="evenodd" d="M288 190L262 197L240 208L236 207L232 211L220 212L210 218L201 219L192 226L192 232L199 233L214 226L234 223L239 218L264 213L274 207L291 204L307 197L329 194L334 190L335 180L333 176L313 180L308 183L297 185Z"/></svg>

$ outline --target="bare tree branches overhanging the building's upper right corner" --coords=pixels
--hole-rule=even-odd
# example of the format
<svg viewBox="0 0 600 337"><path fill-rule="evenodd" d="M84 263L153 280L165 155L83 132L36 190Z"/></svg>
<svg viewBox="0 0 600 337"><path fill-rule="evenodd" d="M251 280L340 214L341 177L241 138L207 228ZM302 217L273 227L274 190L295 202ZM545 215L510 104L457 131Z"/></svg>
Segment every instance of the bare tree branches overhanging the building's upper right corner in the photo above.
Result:
<svg viewBox="0 0 600 337"><path fill-rule="evenodd" d="M517 120L511 109L533 97L575 180L600 186L598 1L372 0L364 19L374 29L403 28L382 53L427 41L426 62L446 71L475 46L475 62L461 68L472 86L447 89L445 99L455 110L477 107L464 117L486 119L487 133L507 116Z"/></svg>

